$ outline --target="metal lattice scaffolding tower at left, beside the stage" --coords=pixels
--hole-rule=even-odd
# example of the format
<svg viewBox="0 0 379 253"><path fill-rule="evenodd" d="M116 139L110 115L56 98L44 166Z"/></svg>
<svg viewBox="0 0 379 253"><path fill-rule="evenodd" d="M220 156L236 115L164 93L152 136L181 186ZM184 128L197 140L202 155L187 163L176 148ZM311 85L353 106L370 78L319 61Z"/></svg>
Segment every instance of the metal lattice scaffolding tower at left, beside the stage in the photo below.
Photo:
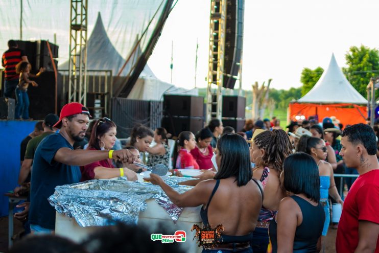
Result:
<svg viewBox="0 0 379 253"><path fill-rule="evenodd" d="M68 102L87 102L87 3L70 1L70 44Z"/></svg>

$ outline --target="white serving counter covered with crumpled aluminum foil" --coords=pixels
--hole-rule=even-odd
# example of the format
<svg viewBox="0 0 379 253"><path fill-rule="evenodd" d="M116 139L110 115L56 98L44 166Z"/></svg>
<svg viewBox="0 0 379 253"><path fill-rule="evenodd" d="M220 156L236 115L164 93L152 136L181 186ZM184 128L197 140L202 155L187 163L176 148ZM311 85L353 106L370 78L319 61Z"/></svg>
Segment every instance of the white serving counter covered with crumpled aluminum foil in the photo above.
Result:
<svg viewBox="0 0 379 253"><path fill-rule="evenodd" d="M178 185L185 180L188 178L172 176L166 183L183 193L192 188ZM178 208L159 186L149 182L117 178L58 186L49 202L57 213L56 234L74 241L80 241L99 226L111 225L114 221L148 224L150 227L164 222L175 230L186 231L187 241L182 246L188 249L187 252L200 250L192 241L191 227L201 225L201 206Z"/></svg>

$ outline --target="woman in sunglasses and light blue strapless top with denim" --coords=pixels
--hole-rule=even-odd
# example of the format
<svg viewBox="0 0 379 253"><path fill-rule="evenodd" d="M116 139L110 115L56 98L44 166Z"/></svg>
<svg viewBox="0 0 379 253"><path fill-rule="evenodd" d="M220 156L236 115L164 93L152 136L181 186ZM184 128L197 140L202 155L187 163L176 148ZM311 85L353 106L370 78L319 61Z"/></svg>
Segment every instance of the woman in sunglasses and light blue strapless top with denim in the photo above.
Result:
<svg viewBox="0 0 379 253"><path fill-rule="evenodd" d="M330 223L330 210L328 195L330 195L337 203L343 204L343 201L338 194L336 183L334 181L333 168L328 162L325 162L327 156L327 148L325 142L317 137L303 135L300 137L297 145L297 152L304 152L313 157L318 166L320 174L320 203L324 206L325 223L322 230L321 248L323 249L323 239L327 234Z"/></svg>

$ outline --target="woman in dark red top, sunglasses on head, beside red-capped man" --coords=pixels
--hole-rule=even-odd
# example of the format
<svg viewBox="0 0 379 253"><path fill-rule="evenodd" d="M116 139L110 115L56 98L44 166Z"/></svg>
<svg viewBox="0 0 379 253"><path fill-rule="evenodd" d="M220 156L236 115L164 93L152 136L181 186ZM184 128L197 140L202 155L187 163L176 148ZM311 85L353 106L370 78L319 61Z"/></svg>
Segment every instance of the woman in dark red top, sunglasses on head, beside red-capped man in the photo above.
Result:
<svg viewBox="0 0 379 253"><path fill-rule="evenodd" d="M111 150L116 142L116 125L108 118L98 120L92 128L87 149ZM111 159L101 160L81 166L81 181L91 179L109 179L112 177L126 176L128 180L137 180L134 171L128 168L114 168Z"/></svg>

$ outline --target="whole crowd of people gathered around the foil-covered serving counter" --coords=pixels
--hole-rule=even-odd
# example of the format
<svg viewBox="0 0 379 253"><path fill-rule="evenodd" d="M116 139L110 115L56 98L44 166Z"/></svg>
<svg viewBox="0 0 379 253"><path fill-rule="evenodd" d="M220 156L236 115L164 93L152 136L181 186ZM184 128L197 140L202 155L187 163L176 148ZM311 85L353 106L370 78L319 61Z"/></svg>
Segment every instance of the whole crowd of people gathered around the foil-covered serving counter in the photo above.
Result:
<svg viewBox="0 0 379 253"><path fill-rule="evenodd" d="M134 162L171 162L176 176L182 176L180 169L202 172L182 182L194 186L191 190L179 194L153 173L144 179L179 207L202 205L204 225L224 226L222 240L203 252L323 250L330 200L343 206L335 224L337 252L379 252L378 129L367 124L343 128L332 117L321 123L293 121L287 131L275 118L246 120L243 129L212 119L196 133L181 132L172 155L164 128L136 125L122 146L114 122L102 118L88 127L89 118L82 104L66 104L59 117L47 115L22 141L21 186L14 191L21 194L30 185L30 194L15 217L26 233L54 233L55 210L47 199L56 186L119 176L134 181L145 170ZM359 175L355 182L343 182L346 197L334 178L340 171Z"/></svg>

